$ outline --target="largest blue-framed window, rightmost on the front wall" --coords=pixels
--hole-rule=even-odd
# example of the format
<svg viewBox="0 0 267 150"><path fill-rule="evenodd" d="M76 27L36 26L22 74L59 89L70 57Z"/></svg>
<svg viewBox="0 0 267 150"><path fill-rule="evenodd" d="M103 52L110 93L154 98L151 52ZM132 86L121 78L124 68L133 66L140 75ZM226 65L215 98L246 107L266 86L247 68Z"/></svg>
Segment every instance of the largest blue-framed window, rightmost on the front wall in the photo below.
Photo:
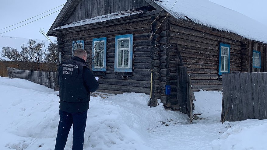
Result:
<svg viewBox="0 0 267 150"><path fill-rule="evenodd" d="M133 34L115 37L115 72L132 72Z"/></svg>

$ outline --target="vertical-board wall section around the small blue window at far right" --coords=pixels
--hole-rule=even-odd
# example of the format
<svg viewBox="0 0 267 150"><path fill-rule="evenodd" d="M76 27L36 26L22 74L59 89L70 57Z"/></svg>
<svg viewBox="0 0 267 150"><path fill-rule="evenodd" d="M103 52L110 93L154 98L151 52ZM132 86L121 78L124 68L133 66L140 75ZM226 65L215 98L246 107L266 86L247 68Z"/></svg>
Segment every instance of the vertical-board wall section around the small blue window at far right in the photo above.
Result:
<svg viewBox="0 0 267 150"><path fill-rule="evenodd" d="M242 62L244 62L243 72L267 72L267 52L266 45L255 41L244 42L242 51ZM242 49L243 50L243 49ZM261 68L253 67L253 50L261 52Z"/></svg>

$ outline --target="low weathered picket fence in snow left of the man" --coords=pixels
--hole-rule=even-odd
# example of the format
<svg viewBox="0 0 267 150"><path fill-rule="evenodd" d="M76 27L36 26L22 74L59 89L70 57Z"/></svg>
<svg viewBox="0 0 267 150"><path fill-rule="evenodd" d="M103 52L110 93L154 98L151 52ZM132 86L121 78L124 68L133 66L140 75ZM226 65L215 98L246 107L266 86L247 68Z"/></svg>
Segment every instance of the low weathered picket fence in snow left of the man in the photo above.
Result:
<svg viewBox="0 0 267 150"><path fill-rule="evenodd" d="M9 78L22 78L40 85L45 85L48 88L55 89L56 72L12 69L9 71Z"/></svg>

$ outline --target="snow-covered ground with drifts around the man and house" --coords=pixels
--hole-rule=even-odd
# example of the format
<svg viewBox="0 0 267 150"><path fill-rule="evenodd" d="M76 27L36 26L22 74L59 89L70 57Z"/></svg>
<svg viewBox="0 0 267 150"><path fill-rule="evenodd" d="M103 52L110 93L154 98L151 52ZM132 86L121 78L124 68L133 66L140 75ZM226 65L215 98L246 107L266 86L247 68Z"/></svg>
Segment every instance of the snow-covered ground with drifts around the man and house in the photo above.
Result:
<svg viewBox="0 0 267 150"><path fill-rule="evenodd" d="M54 149L58 92L23 79L0 77L0 149ZM124 93L91 97L85 131L85 150L261 150L266 149L267 120L220 120L220 92L195 92L194 113L149 107L149 96ZM65 150L71 150L72 130Z"/></svg>

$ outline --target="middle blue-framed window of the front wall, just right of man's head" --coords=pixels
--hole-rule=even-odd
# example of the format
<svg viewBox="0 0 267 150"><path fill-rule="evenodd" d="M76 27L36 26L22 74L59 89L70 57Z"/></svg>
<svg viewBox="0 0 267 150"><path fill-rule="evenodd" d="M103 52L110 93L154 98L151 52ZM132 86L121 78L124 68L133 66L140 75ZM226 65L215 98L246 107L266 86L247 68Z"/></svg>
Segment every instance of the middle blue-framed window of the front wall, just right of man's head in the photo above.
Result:
<svg viewBox="0 0 267 150"><path fill-rule="evenodd" d="M92 70L106 71L107 37L93 39Z"/></svg>

